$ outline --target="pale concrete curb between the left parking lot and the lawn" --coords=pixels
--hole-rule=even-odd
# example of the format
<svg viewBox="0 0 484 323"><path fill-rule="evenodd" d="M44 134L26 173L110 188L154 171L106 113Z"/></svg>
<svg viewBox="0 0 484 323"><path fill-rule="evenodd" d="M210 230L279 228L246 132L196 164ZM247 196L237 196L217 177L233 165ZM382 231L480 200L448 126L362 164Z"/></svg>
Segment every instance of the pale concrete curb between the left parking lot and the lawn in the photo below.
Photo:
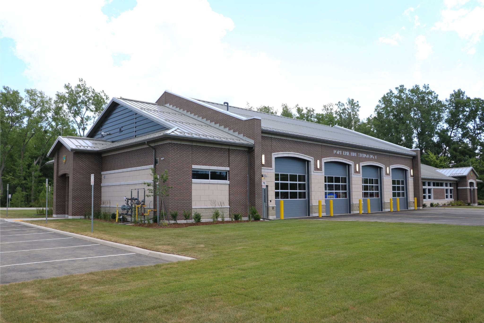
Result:
<svg viewBox="0 0 484 323"><path fill-rule="evenodd" d="M29 227L34 227L34 228L38 228L38 229L44 229L44 230L47 230L47 231L61 233L63 235L68 235L70 237L77 238L77 239L95 242L95 243L105 245L105 246L111 246L111 247L119 248L119 249L126 250L126 251L136 252L136 253L139 253L139 254L145 255L145 256L160 258L160 259L163 259L163 260L166 260L166 261L184 261L184 260L194 260L194 259L196 259L196 258L191 258L191 257L186 257L186 256L174 255L174 254L171 254L171 253L151 251L151 250L143 249L143 248L136 247L136 246L123 245L123 244L120 244L120 243L117 243L117 242L102 240L102 239L98 239L98 238L88 237L87 235L82 235L82 234L77 234L77 233L47 228L47 227L43 227L43 226L38 226L36 224L27 223L27 222L23 222L23 221L22 221L22 224L25 224L26 226L29 226Z"/></svg>

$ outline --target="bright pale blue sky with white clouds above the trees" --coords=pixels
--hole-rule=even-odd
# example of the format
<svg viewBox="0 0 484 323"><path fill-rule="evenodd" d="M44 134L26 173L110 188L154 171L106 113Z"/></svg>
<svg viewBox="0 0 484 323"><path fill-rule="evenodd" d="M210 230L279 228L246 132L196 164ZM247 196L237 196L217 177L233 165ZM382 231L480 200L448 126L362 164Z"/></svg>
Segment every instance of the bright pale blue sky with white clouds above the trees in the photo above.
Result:
<svg viewBox="0 0 484 323"><path fill-rule="evenodd" d="M484 0L4 1L0 85L169 90L238 107L358 100L400 84L484 97Z"/></svg>

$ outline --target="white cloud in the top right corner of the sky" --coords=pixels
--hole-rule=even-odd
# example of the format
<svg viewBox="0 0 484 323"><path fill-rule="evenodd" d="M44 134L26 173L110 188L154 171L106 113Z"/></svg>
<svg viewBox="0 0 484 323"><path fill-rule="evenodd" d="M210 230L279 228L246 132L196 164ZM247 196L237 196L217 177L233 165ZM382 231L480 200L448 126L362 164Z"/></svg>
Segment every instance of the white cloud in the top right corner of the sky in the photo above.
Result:
<svg viewBox="0 0 484 323"><path fill-rule="evenodd" d="M467 1L460 1L458 5L465 2ZM484 5L484 2L482 3ZM460 38L467 40L469 44L476 44L481 40L484 33L484 6L476 6L471 9L452 9L453 6L442 10L441 20L432 29L455 31Z"/></svg>

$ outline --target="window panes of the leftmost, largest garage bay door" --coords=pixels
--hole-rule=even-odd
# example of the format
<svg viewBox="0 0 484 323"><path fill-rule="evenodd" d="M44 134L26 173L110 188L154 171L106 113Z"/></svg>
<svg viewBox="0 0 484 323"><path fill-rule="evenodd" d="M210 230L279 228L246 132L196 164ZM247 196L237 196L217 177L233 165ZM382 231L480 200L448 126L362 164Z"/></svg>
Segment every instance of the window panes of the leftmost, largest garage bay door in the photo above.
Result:
<svg viewBox="0 0 484 323"><path fill-rule="evenodd" d="M306 198L306 175L275 173L276 200L296 200Z"/></svg>

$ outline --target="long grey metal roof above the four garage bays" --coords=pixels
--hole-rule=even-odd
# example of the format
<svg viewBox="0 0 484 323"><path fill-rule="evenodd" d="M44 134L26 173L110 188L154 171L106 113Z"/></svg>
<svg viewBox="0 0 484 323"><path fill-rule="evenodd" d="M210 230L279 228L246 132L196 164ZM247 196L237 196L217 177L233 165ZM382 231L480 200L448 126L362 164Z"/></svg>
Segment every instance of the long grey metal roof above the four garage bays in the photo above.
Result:
<svg viewBox="0 0 484 323"><path fill-rule="evenodd" d="M174 94L174 93L173 93ZM177 94L175 94L177 95ZM204 100L193 99L200 104L212 106L217 110L227 106ZM261 119L261 127L263 132L289 135L295 137L302 137L308 139L317 139L321 141L344 143L350 146L359 146L362 148L372 148L380 151L387 151L399 154L407 154L414 156L415 152L412 150L393 144L391 142L364 135L362 133L349 130L340 126L329 126L320 123L312 123L308 121L282 117L270 113L249 110L245 108L238 108L229 106L229 111L245 118L258 117Z"/></svg>

